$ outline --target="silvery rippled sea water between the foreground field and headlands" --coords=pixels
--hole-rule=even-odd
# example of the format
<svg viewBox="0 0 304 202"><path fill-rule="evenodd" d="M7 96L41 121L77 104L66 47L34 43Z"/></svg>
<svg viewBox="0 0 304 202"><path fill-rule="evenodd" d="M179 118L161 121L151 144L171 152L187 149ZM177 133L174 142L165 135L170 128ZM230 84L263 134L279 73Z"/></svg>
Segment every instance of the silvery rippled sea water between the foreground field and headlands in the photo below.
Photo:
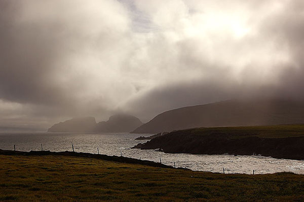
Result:
<svg viewBox="0 0 304 202"><path fill-rule="evenodd" d="M74 133L0 133L0 149L30 151L71 151L72 144L76 152L132 157L151 160L167 165L176 163L177 167L187 167L194 171L211 171L222 173L267 174L276 172L293 172L304 174L304 160L275 159L262 156L233 156L233 155L193 155L166 154L154 150L130 149L138 143L135 141L140 134L106 133L106 134L74 134Z"/></svg>

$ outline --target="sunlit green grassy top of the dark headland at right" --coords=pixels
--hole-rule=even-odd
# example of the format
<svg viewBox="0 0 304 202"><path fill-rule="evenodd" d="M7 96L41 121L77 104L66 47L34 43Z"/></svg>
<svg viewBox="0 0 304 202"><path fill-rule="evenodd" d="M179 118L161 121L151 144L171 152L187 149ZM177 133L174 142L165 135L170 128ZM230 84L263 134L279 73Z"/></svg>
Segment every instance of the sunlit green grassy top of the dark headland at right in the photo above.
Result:
<svg viewBox="0 0 304 202"><path fill-rule="evenodd" d="M304 125L271 125L271 126L236 126L236 127L206 127L192 129L192 133L208 135L212 133L231 134L232 138L291 138L303 137Z"/></svg>

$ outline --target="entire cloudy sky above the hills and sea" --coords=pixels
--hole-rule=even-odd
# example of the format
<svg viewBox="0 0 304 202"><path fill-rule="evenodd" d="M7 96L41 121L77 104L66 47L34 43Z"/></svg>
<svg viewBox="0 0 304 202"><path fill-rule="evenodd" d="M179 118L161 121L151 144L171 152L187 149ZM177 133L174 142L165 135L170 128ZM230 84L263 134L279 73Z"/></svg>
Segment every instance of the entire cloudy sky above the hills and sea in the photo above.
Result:
<svg viewBox="0 0 304 202"><path fill-rule="evenodd" d="M0 130L304 97L302 0L0 1Z"/></svg>

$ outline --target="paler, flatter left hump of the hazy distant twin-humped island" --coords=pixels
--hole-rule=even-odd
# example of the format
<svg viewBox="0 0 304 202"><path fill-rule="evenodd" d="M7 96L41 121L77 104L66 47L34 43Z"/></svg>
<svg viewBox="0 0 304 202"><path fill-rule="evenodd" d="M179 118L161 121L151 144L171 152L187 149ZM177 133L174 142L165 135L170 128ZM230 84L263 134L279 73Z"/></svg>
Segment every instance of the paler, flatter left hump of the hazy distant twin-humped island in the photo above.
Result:
<svg viewBox="0 0 304 202"><path fill-rule="evenodd" d="M56 123L48 129L49 132L87 132L96 125L94 117L73 118Z"/></svg>

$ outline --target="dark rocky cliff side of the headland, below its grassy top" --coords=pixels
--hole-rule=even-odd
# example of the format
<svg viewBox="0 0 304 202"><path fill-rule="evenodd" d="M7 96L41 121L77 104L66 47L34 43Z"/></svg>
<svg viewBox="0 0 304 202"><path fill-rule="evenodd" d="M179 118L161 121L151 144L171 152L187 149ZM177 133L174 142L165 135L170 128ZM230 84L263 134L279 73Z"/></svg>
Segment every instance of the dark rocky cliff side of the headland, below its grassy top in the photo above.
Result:
<svg viewBox="0 0 304 202"><path fill-rule="evenodd" d="M304 159L304 137L261 138L258 134L211 132L198 134L196 129L174 131L133 148L160 149L165 153L261 155L273 158Z"/></svg>

